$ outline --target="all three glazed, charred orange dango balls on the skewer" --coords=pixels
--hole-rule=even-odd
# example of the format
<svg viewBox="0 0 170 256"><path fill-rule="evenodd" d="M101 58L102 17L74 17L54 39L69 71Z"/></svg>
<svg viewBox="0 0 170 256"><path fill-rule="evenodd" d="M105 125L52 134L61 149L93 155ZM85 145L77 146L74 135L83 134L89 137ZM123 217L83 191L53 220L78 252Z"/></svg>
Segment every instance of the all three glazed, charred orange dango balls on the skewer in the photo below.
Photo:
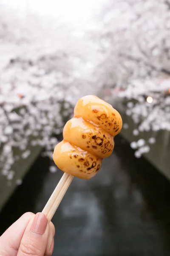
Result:
<svg viewBox="0 0 170 256"><path fill-rule="evenodd" d="M96 175L102 159L111 155L114 136L122 129L122 118L110 104L96 96L79 99L74 117L63 130L53 159L63 172L85 180Z"/></svg>

